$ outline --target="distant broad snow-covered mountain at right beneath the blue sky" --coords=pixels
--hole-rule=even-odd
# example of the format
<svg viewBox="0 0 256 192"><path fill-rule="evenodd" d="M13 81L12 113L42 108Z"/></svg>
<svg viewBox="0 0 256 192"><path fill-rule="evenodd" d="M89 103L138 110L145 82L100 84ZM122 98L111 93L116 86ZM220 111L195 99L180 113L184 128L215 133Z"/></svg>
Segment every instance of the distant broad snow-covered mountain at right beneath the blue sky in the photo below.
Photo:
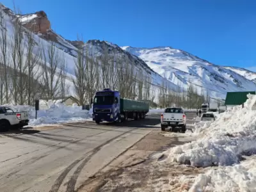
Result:
<svg viewBox="0 0 256 192"><path fill-rule="evenodd" d="M202 87L203 90L207 88L211 97L225 98L227 92L248 91L256 88L256 84L250 81L252 79L244 77L234 69L214 65L179 49L172 47L147 49L129 46L122 49L140 57L158 74L179 86L186 88L190 82L198 91Z"/></svg>

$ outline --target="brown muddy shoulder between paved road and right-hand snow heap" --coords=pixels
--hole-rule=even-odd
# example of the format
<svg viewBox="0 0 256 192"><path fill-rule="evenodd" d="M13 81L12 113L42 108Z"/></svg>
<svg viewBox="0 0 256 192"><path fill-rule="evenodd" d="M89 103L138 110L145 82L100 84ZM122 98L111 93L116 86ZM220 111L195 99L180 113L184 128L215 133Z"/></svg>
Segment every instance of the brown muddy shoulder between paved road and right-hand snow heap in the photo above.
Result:
<svg viewBox="0 0 256 192"><path fill-rule="evenodd" d="M104 168L90 177L90 179L86 180L78 191L122 191L124 189L134 189L134 183L136 182L136 174L134 175L134 173L139 169L140 180L145 181L149 173L148 168L151 169L152 161L155 161L152 159L152 156L170 147L182 145L191 140L195 140L195 138L179 132L152 131L131 148L125 150L120 156L116 157L111 163L104 166ZM118 186L116 180L120 180L124 175L130 175L133 177L133 181Z"/></svg>

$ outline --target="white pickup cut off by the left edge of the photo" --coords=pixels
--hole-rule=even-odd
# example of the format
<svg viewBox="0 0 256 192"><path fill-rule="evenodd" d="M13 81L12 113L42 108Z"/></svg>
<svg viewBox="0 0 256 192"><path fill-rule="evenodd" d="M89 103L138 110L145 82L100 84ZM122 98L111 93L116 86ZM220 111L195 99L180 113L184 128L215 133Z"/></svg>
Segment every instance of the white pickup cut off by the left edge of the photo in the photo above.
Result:
<svg viewBox="0 0 256 192"><path fill-rule="evenodd" d="M0 132L8 131L12 125L19 128L28 125L28 112L14 112L12 109L0 106Z"/></svg>

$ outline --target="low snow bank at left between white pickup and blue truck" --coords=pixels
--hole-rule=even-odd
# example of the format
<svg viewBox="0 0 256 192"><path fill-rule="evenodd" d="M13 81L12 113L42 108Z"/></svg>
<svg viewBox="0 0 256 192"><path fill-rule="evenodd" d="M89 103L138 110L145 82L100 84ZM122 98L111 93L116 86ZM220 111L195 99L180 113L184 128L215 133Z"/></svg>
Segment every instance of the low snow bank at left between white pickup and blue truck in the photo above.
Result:
<svg viewBox="0 0 256 192"><path fill-rule="evenodd" d="M33 106L8 106L14 111L28 111L29 125L49 125L59 124L64 122L74 122L81 120L91 120L92 115L89 111L83 110L82 106L66 106L65 104L55 103L49 100L47 102L48 109L40 109L36 112Z"/></svg>

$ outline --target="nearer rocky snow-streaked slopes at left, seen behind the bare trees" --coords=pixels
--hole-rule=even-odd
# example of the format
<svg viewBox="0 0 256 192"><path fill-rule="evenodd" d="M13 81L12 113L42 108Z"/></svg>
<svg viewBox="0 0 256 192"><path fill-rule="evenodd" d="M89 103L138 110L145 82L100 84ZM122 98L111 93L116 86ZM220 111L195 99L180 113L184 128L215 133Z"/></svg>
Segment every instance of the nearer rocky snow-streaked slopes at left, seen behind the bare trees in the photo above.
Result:
<svg viewBox="0 0 256 192"><path fill-rule="evenodd" d="M6 8L3 4L0 4L0 11L3 15L4 28L7 29L6 30L7 41L12 42L13 36L15 35L14 34L15 27L13 22L15 21L15 19L18 18L23 26L24 31L33 31L32 38L33 38L33 41L35 41L35 48L33 49L33 55L35 56L36 54L38 54L38 51L46 52L46 56L43 59L47 67L49 67L49 62L50 62L50 56L47 50L51 48L51 45L54 46L54 52L55 52L54 54L56 55L56 58L58 57L58 59L60 59L61 62L63 61L66 64L66 67L65 67L65 72L67 72L66 84L68 84L68 87L69 87L67 94L75 95L72 79L75 78L74 75L75 75L75 68L76 68L77 47L72 45L72 41L65 40L65 38L63 38L61 35L58 35L54 31L52 31L51 24L47 19L47 15L43 11L36 12L36 13L29 13L26 15L15 15L12 12L12 10L10 10L9 8ZM0 30L0 31L4 31L4 28L2 28L3 30ZM28 33L28 32L25 32L25 33ZM24 38L23 41L24 41L24 52L26 52L27 51L26 47L28 47L28 40ZM12 44L13 43L10 43L10 45ZM154 86L154 88L156 88L156 90L157 88L159 88L159 86L161 86L161 84L163 84L163 82L166 82L166 84L168 84L168 86L173 90L177 90L177 86L175 84L161 77L159 74L154 72L154 70L148 67L148 65L143 60L130 54L129 52L122 50L120 47L118 47L118 45L111 44L105 41L89 40L86 44L84 44L84 47L87 47L90 49L90 52L93 53L94 58L102 56L104 51L102 47L108 50L109 55L113 55L115 53L121 58L127 57L128 61L126 61L126 63L128 63L128 65L129 63L130 64L134 63L137 69L141 68L144 72L148 74L148 76L151 77L150 83L152 84L152 86ZM13 49L13 46L8 47L9 52L12 52L12 49ZM26 60L27 60L26 55L24 54L23 57L24 57L24 63L26 63ZM9 57L8 61L10 61L8 62L9 67L12 68L13 67L12 58ZM21 63L21 64L24 65L24 63ZM37 65L35 70L37 72L38 71L41 72L42 63L38 62L36 64ZM54 75L54 79L55 79L54 81L58 79L58 76L59 76L58 73ZM40 80L42 76L39 76L38 78Z"/></svg>

